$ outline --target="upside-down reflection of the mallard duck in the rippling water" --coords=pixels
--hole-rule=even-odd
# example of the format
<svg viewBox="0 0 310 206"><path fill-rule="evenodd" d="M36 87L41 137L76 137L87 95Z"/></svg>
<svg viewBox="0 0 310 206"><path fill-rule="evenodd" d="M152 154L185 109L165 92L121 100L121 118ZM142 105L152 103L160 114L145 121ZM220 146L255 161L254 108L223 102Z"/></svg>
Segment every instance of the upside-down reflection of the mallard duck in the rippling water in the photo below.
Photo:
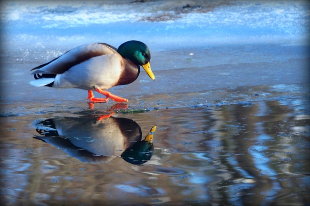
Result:
<svg viewBox="0 0 310 206"><path fill-rule="evenodd" d="M68 155L86 163L108 163L121 156L131 164L143 164L154 151L153 126L142 139L137 122L111 115L87 115L39 119L34 122L34 139L42 140L64 150Z"/></svg>

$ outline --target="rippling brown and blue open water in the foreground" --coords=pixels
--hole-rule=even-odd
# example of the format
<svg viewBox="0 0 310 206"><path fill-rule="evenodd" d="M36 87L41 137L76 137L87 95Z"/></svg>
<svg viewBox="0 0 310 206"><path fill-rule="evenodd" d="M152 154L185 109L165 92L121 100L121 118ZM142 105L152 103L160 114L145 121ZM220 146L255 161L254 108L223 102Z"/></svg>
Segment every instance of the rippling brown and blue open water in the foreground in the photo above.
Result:
<svg viewBox="0 0 310 206"><path fill-rule="evenodd" d="M112 102L93 109L85 101L70 108L66 102L33 103L32 109L2 114L1 202L307 205L309 98L284 96L140 110L117 105L101 120L112 113ZM46 119L58 133L36 131ZM127 143L143 140L154 125L151 159L126 162L121 154ZM119 142L129 131L127 138L136 138Z"/></svg>

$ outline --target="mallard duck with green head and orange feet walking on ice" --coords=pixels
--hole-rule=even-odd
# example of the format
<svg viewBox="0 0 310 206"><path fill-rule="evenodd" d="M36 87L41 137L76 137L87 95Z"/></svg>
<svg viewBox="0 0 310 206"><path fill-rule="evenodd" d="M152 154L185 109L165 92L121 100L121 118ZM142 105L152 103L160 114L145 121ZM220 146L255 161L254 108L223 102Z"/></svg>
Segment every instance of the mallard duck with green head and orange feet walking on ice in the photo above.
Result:
<svg viewBox="0 0 310 206"><path fill-rule="evenodd" d="M155 80L150 65L151 53L140 41L127 41L119 48L105 43L92 43L76 47L60 57L37 66L31 74L36 87L80 88L88 90L91 103L117 102L128 99L116 96L105 89L134 82L140 73L140 65ZM93 90L106 98L94 98Z"/></svg>

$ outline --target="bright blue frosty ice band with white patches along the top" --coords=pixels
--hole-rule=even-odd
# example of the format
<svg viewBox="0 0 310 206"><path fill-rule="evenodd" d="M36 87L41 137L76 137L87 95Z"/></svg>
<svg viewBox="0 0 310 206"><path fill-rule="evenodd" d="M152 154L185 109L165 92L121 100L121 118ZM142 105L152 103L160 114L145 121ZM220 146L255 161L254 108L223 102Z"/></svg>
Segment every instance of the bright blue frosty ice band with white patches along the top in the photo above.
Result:
<svg viewBox="0 0 310 206"><path fill-rule="evenodd" d="M155 41L160 47L279 43L308 38L308 9L307 1L6 1L1 21L17 41L49 47L89 38L115 43L129 36L148 39L147 44ZM89 30L95 33L90 36ZM52 39L57 41L47 42Z"/></svg>

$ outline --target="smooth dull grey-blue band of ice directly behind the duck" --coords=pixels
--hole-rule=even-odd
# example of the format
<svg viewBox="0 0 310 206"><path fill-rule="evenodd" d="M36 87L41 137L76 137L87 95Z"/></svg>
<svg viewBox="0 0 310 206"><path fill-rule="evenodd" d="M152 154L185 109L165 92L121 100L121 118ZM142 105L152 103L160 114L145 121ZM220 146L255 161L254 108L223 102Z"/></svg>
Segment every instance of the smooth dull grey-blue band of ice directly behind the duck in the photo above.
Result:
<svg viewBox="0 0 310 206"><path fill-rule="evenodd" d="M189 55L189 52L193 55ZM87 92L80 89L31 86L29 82L33 76L30 75L30 69L44 61L26 61L27 58L32 59L33 55L23 52L15 55L24 56L18 61L10 56L1 61L1 74L6 77L0 82L2 100L55 102L82 101L87 98ZM209 49L155 52L152 57L155 81L142 69L135 82L109 91L131 102L137 95L142 98L159 93L174 95L220 88L309 83L309 48L303 46L223 45ZM95 92L95 96L100 97L100 94Z"/></svg>

